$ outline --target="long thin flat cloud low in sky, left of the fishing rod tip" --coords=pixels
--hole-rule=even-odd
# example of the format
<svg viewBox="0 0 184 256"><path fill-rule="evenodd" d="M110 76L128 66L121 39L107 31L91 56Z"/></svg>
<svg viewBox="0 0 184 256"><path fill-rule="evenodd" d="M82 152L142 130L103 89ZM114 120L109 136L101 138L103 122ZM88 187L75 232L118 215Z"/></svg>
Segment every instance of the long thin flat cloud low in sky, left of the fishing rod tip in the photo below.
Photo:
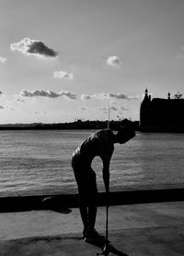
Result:
<svg viewBox="0 0 184 256"><path fill-rule="evenodd" d="M61 96L65 96L68 99L75 100L76 94L70 91L60 91L60 92L53 92L53 91L44 91L44 90L35 90L35 91L21 91L20 96L23 97L47 97L47 98L58 98Z"/></svg>

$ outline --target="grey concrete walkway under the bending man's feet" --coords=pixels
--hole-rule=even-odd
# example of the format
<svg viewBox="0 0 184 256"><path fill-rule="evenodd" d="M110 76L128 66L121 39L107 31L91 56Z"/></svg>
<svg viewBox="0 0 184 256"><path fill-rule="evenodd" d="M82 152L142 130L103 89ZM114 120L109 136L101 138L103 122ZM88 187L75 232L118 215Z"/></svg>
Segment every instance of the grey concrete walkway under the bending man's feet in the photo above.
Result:
<svg viewBox="0 0 184 256"><path fill-rule="evenodd" d="M105 209L98 208L97 229L103 234ZM0 256L97 255L102 243L81 239L78 209L72 213L32 211L0 214ZM183 256L184 202L111 206L110 255Z"/></svg>

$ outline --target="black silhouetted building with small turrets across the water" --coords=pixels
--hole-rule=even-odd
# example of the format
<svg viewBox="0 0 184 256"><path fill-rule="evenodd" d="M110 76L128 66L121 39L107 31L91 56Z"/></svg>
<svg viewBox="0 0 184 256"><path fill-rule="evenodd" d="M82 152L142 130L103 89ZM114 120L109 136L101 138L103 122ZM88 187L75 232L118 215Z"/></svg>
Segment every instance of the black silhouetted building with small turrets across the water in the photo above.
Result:
<svg viewBox="0 0 184 256"><path fill-rule="evenodd" d="M145 90L144 100L140 108L141 128L184 128L184 99L177 97L167 99L151 98Z"/></svg>

